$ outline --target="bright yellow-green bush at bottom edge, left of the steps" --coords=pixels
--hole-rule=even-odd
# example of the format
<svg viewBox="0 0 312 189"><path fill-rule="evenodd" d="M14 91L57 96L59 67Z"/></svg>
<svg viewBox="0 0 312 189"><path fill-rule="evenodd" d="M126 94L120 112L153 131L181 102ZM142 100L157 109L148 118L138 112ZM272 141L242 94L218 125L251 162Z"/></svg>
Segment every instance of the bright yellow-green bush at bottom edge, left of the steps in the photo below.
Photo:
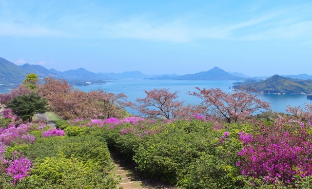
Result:
<svg viewBox="0 0 312 189"><path fill-rule="evenodd" d="M62 155L45 157L35 163L30 176L15 189L117 189L120 179L98 170L98 164L93 161Z"/></svg>

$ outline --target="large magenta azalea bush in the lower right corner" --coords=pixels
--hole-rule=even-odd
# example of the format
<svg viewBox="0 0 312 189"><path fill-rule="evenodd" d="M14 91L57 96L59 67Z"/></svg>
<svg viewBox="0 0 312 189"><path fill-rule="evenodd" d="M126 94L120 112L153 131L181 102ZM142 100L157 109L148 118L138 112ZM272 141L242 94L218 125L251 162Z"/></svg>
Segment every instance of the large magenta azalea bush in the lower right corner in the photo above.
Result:
<svg viewBox="0 0 312 189"><path fill-rule="evenodd" d="M243 149L238 155L242 160L236 165L243 175L271 183L276 179L289 183L294 175L312 175L311 138L304 128L296 127L296 132L290 132L288 127L292 126L283 123L258 126L258 135L239 133Z"/></svg>

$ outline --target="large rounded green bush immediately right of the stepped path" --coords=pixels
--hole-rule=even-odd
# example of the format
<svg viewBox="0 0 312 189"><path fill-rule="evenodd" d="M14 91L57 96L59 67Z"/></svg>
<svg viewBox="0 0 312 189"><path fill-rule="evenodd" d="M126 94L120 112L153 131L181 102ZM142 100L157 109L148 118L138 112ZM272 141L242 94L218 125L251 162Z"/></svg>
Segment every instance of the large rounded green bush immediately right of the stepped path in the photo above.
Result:
<svg viewBox="0 0 312 189"><path fill-rule="evenodd" d="M205 153L214 154L217 131L204 121L176 121L159 134L144 138L136 150L137 169L176 184L180 172Z"/></svg>

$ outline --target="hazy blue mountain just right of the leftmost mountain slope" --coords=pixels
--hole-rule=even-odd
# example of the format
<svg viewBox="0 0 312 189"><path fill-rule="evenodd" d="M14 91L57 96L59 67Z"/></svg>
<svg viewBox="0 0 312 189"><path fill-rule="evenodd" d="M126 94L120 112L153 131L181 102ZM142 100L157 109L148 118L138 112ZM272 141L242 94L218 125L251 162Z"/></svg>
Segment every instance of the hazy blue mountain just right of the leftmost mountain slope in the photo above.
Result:
<svg viewBox="0 0 312 189"><path fill-rule="evenodd" d="M27 74L29 73L35 73L38 75L38 77L44 78L44 77L55 77L55 78L60 78L61 76L51 72L50 70L44 68L43 66L40 65L30 65L30 64L24 64L19 66L21 69L24 69Z"/></svg>

